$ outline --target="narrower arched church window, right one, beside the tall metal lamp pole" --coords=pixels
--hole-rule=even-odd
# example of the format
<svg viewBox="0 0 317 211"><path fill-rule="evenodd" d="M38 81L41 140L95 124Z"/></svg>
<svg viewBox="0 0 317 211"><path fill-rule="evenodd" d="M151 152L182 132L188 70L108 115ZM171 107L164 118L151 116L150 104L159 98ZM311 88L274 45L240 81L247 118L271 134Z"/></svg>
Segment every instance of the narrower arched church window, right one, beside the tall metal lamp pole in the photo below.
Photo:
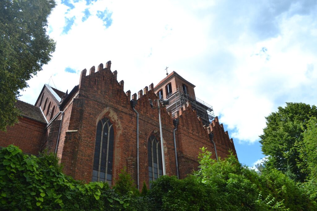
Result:
<svg viewBox="0 0 317 211"><path fill-rule="evenodd" d="M149 162L149 182L156 180L163 175L161 144L151 135L147 142L147 158Z"/></svg>

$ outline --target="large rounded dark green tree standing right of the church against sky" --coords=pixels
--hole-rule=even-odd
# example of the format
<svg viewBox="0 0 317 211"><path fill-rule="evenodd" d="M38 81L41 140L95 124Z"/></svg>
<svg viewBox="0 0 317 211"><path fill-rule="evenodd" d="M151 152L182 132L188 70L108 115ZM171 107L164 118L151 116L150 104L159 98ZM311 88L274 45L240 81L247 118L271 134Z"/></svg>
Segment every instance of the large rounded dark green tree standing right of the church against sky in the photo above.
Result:
<svg viewBox="0 0 317 211"><path fill-rule="evenodd" d="M288 172L297 181L304 182L308 173L300 167L304 161L300 157L299 146L306 124L311 117L317 117L317 110L316 106L305 103L286 104L285 108L278 107L277 112L266 117L266 127L260 136L262 152L268 155L267 167Z"/></svg>

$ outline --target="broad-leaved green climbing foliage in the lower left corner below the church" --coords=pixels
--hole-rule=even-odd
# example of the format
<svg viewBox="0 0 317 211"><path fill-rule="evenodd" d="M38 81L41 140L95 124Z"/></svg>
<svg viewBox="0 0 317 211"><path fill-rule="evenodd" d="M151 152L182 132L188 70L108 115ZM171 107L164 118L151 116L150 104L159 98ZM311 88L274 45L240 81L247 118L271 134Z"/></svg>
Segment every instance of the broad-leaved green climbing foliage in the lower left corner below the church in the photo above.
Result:
<svg viewBox="0 0 317 211"><path fill-rule="evenodd" d="M0 151L1 210L151 210L143 197L120 196L107 183L83 184L61 173L54 155Z"/></svg>

